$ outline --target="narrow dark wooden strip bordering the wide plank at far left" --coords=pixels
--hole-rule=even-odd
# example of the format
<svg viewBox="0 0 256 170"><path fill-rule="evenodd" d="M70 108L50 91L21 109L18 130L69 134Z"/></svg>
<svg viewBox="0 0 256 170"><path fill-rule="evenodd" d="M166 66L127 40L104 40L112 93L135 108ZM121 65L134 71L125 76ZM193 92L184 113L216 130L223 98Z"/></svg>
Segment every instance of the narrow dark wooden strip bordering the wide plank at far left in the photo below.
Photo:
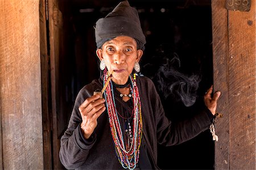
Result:
<svg viewBox="0 0 256 170"><path fill-rule="evenodd" d="M52 147L51 147L51 115L49 111L49 59L47 50L47 19L46 0L39 0L40 17L40 56L41 56L41 78L42 78L42 115L43 115L43 147L44 147L44 169L52 169Z"/></svg>

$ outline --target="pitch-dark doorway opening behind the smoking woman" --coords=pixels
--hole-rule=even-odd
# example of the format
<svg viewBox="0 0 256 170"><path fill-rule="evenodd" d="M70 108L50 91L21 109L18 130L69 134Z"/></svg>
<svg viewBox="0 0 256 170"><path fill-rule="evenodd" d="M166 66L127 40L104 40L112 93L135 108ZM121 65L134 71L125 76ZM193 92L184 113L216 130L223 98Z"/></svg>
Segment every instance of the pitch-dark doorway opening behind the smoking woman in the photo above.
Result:
<svg viewBox="0 0 256 170"><path fill-rule="evenodd" d="M60 56L62 133L67 127L73 102L82 86L100 75L94 24L119 1L59 1L64 18L65 49ZM129 1L139 12L146 35L141 60L142 74L158 88L166 115L172 121L187 119L202 105L202 97L213 84L212 19L210 0L205 1ZM159 68L166 66L187 77L195 76L195 104L185 106L177 93L166 95L160 89ZM188 80L191 80L188 78ZM164 81L176 82L174 77ZM167 84L170 85L170 84ZM62 127L62 128L61 128ZM162 169L214 169L214 142L209 131L179 146L159 146L158 164Z"/></svg>

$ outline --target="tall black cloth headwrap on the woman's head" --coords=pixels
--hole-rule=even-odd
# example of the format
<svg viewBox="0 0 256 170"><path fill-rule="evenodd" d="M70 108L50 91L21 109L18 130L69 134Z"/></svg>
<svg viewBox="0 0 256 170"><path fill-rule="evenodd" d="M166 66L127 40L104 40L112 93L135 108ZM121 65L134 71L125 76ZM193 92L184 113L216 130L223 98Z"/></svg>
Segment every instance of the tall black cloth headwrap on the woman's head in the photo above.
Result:
<svg viewBox="0 0 256 170"><path fill-rule="evenodd" d="M120 2L115 9L96 22L95 37L97 48L117 36L130 36L137 42L138 49L144 50L146 38L141 28L139 15L128 1Z"/></svg>

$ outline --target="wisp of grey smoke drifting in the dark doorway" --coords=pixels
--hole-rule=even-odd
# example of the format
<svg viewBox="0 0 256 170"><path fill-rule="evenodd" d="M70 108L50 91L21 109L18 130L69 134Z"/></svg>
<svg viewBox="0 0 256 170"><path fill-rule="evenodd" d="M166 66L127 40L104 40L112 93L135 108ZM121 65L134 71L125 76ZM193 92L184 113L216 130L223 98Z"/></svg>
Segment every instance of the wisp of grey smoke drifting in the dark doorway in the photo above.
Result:
<svg viewBox="0 0 256 170"><path fill-rule="evenodd" d="M166 58L166 63L160 65L155 78L158 81L158 89L163 93L164 98L172 95L177 101L182 101L185 106L192 106L196 102L197 89L199 88L200 76L192 74L186 76L177 71L175 64L180 67L180 60L177 55L173 59Z"/></svg>

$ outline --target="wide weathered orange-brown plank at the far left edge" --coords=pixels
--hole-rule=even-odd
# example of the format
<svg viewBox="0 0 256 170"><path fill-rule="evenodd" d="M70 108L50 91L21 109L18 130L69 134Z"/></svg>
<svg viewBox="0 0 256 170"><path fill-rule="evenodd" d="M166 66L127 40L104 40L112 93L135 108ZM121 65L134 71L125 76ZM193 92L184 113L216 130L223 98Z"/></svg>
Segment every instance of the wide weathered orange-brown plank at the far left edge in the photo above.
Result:
<svg viewBox="0 0 256 170"><path fill-rule="evenodd" d="M3 169L43 169L39 1L0 1Z"/></svg>

